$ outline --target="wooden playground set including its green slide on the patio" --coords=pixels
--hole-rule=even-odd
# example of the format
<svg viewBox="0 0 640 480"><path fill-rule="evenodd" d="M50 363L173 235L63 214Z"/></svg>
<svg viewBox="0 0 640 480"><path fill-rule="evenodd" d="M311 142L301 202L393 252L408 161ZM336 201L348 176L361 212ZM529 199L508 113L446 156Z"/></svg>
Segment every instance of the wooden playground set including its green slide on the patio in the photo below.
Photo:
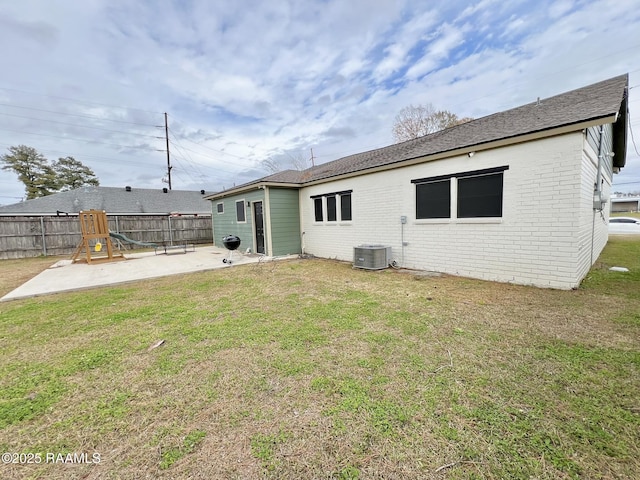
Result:
<svg viewBox="0 0 640 480"><path fill-rule="evenodd" d="M112 232L109 230L107 212L104 210L83 210L78 214L78 219L80 220L82 240L71 257L72 263L92 264L126 260L120 249L114 251L112 238L118 242L118 245L128 243L153 248L156 255L159 253L187 253L187 251L195 250L194 245L159 245L153 242L139 242L121 233ZM83 252L84 258L81 258Z"/></svg>

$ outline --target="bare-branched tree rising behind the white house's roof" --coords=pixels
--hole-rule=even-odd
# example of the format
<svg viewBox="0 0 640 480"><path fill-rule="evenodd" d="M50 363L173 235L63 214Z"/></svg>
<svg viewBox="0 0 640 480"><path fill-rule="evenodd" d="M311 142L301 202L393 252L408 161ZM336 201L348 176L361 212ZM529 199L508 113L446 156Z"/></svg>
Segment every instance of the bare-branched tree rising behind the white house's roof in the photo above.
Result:
<svg viewBox="0 0 640 480"><path fill-rule="evenodd" d="M436 110L430 103L409 105L400 110L393 124L393 138L396 143L428 135L445 128L473 120L458 117L448 110Z"/></svg>

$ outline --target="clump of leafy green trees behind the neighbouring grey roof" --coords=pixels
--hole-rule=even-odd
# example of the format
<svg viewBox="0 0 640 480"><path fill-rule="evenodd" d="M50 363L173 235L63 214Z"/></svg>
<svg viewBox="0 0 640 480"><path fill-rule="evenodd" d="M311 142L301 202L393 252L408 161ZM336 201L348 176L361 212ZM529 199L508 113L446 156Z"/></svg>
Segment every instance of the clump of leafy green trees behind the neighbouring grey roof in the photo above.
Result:
<svg viewBox="0 0 640 480"><path fill-rule="evenodd" d="M3 170L12 170L24 183L27 200L71 190L83 185L99 185L93 171L73 157L60 158L52 165L33 147L9 147L0 156Z"/></svg>

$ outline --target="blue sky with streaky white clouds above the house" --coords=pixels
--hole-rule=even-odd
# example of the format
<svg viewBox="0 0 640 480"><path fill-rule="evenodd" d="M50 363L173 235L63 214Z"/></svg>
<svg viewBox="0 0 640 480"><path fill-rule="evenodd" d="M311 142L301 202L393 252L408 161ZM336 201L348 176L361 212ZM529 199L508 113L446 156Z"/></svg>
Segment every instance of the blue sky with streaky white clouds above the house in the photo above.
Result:
<svg viewBox="0 0 640 480"><path fill-rule="evenodd" d="M166 113L172 188L207 192L390 145L408 105L479 118L628 73L613 190L640 191L639 0L0 0L0 59L0 155L167 187Z"/></svg>

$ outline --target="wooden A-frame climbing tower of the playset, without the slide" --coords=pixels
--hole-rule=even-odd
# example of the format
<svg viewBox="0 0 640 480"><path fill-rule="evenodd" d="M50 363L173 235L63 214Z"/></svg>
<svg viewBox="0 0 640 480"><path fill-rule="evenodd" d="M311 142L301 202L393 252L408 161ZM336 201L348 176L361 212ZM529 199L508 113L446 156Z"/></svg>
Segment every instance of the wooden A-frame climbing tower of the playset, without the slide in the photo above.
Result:
<svg viewBox="0 0 640 480"><path fill-rule="evenodd" d="M111 237L109 236L109 221L107 220L107 212L104 210L83 210L78 214L80 220L80 228L82 230L82 241L76 248L71 258L72 263L84 262L115 262L118 260L126 260L121 252L114 253ZM100 255L92 255L92 245L100 242L103 248L106 248L106 255L100 249ZM94 243L95 242L95 243ZM86 259L78 257L85 251ZM98 253L97 249L93 253Z"/></svg>

